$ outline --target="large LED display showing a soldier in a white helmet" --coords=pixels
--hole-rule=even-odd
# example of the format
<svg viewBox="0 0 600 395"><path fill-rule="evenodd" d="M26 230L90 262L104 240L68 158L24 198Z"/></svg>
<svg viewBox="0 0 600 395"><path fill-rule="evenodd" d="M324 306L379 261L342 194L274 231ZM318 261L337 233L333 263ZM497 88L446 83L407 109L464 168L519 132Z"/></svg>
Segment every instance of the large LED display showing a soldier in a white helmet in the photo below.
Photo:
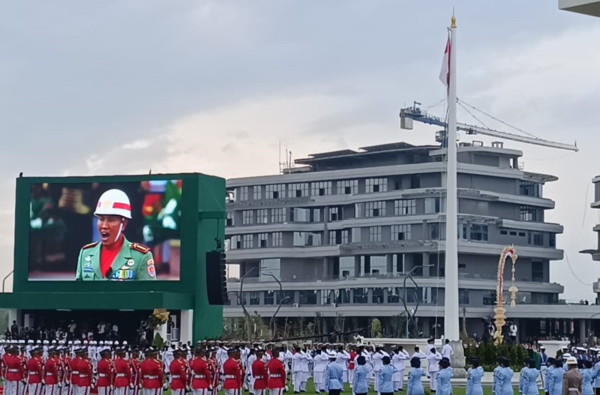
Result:
<svg viewBox="0 0 600 395"><path fill-rule="evenodd" d="M179 280L179 180L34 184L32 281Z"/></svg>

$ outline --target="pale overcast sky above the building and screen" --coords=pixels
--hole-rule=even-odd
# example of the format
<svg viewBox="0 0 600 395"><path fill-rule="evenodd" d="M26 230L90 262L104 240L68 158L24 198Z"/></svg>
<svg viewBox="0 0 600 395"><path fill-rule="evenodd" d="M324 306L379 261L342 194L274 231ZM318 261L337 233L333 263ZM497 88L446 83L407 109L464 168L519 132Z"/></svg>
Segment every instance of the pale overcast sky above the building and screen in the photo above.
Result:
<svg viewBox="0 0 600 395"><path fill-rule="evenodd" d="M453 4L452 4L453 3ZM14 178L198 171L275 174L293 156L407 141L398 128L438 80L452 5L458 95L579 153L505 142L555 174L546 220L565 226L551 264L563 297L594 298L588 255L600 174L600 19L556 1L4 1L0 13L0 277L12 267ZM433 112L443 114L443 105ZM461 111L459 121L477 123ZM487 126L503 128L480 118ZM489 139L477 137L477 140ZM470 140L462 136L462 140ZM517 263L518 265L518 263Z"/></svg>

